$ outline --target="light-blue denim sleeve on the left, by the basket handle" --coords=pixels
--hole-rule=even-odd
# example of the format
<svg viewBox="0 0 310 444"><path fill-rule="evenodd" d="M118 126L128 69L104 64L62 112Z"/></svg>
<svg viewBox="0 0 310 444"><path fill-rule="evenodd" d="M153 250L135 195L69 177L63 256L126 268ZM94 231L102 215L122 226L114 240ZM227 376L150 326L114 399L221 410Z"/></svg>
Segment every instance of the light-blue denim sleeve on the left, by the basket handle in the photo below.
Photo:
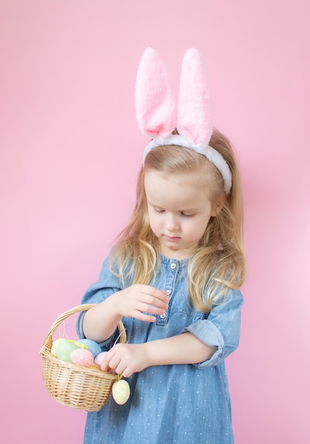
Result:
<svg viewBox="0 0 310 444"><path fill-rule="evenodd" d="M106 258L104 264L102 265L101 272L99 274L99 280L92 284L87 292L84 294L82 298L82 304L100 304L107 297L111 296L122 289L121 280L118 279L110 270L109 270L109 257ZM76 329L79 338L85 338L83 331L83 321L86 311L82 311L79 313L76 322ZM117 334L117 331L115 335ZM113 337L114 338L114 337ZM111 342L111 339L104 341L101 343L101 346L107 345Z"/></svg>

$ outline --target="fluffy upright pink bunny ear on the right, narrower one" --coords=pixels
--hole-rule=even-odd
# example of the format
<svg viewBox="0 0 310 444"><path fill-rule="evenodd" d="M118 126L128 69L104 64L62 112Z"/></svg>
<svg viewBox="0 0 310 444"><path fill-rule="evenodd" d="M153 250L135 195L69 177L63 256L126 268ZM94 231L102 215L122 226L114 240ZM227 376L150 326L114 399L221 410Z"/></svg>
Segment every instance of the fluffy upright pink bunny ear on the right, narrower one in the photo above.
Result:
<svg viewBox="0 0 310 444"><path fill-rule="evenodd" d="M204 62L191 48L183 57L177 129L195 145L208 145L212 134L209 88Z"/></svg>

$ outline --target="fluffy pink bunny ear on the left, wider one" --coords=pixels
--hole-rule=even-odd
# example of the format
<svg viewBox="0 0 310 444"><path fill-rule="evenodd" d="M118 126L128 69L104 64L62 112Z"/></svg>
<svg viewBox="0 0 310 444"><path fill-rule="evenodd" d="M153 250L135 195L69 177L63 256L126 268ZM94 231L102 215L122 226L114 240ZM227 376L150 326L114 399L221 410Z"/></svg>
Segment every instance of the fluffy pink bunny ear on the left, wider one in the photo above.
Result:
<svg viewBox="0 0 310 444"><path fill-rule="evenodd" d="M177 126L170 79L157 51L148 48L138 66L135 84L135 111L140 131L161 138Z"/></svg>

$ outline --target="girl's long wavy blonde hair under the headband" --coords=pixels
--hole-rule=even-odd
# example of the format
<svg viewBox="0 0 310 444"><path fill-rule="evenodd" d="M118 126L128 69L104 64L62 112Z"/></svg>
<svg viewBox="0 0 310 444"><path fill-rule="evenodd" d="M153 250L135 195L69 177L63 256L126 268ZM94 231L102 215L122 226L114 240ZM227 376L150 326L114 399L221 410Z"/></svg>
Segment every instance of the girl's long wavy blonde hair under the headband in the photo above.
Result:
<svg viewBox="0 0 310 444"><path fill-rule="evenodd" d="M236 158L231 143L219 131L214 130L209 144L221 153L231 170L233 180L228 195L224 193L220 172L203 155L175 145L154 148L141 167L135 209L127 226L118 235L118 243L111 256L111 269L123 279L123 284L125 279L129 279L130 284L151 284L160 252L148 220L145 172L192 174L195 179L203 179L212 191L209 198L214 206L223 201L221 211L211 217L199 245L190 252L189 301L203 312L209 312L214 304L220 303L228 288L240 288L245 281L243 201Z"/></svg>

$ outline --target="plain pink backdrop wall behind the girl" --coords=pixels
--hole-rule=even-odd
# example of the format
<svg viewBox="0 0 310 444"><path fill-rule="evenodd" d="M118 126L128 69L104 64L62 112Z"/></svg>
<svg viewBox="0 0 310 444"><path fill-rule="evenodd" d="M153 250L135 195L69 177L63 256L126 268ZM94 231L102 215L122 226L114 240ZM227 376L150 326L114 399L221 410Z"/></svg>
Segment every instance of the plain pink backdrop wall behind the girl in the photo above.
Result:
<svg viewBox="0 0 310 444"><path fill-rule="evenodd" d="M133 208L146 143L133 95L147 46L175 93L184 51L201 50L214 123L238 151L249 276L240 348L227 360L236 444L310 442L309 9L1 1L2 443L82 443L85 413L48 396L39 350Z"/></svg>

